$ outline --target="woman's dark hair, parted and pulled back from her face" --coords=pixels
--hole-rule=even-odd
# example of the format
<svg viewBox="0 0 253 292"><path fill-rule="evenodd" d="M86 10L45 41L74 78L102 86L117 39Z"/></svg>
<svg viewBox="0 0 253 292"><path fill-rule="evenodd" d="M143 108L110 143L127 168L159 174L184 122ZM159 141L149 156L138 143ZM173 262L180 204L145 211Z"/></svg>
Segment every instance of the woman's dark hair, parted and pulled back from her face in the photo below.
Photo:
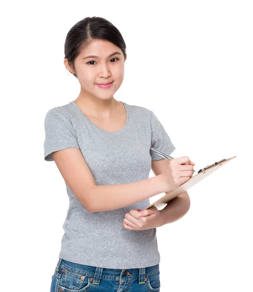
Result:
<svg viewBox="0 0 253 292"><path fill-rule="evenodd" d="M96 39L108 40L115 44L126 57L126 44L118 29L101 17L86 17L78 21L68 32L64 43L64 54L69 65L75 70L75 59L80 52ZM76 72L76 70L75 70ZM76 78L77 75L72 73Z"/></svg>

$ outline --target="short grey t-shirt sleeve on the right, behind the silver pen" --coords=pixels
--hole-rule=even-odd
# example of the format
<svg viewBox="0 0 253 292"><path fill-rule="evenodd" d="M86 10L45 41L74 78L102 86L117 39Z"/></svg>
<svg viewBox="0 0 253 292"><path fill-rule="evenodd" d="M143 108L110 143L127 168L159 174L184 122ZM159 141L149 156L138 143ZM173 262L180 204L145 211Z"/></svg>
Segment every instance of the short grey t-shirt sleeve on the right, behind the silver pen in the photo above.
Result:
<svg viewBox="0 0 253 292"><path fill-rule="evenodd" d="M151 128L151 147L157 148L158 150L161 150L162 152L170 155L175 150L175 146L172 144L169 135L165 131L165 128L162 126L161 122L158 120L153 111L151 116ZM156 152L152 149L150 149L150 155L152 160L164 159L162 156L156 154Z"/></svg>

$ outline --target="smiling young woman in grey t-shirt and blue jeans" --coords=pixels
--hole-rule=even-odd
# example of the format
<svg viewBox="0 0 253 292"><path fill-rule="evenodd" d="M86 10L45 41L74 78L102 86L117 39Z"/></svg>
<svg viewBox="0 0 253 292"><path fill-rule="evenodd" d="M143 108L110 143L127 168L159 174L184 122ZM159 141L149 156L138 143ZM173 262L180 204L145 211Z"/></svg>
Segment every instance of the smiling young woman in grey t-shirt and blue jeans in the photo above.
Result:
<svg viewBox="0 0 253 292"><path fill-rule="evenodd" d="M189 180L194 164L158 156L151 147L175 146L154 112L114 98L125 60L123 37L104 18L84 18L67 34L64 64L81 89L45 116L44 159L57 164L70 201L51 292L160 291L162 210L140 211Z"/></svg>

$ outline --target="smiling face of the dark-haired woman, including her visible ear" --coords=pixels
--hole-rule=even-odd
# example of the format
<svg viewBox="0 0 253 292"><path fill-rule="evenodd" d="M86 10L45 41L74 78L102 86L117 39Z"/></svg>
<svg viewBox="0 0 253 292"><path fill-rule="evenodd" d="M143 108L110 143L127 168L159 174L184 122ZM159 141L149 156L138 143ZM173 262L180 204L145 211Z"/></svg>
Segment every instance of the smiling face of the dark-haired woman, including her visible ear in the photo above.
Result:
<svg viewBox="0 0 253 292"><path fill-rule="evenodd" d="M114 54L114 53L119 54ZM88 57L93 55L93 57ZM97 56L97 57L94 57ZM66 61L65 61L66 60ZM65 66L76 73L81 85L81 95L109 99L118 90L124 78L124 55L113 43L107 40L94 40L78 55L75 69L69 69L67 59ZM113 82L109 88L100 88L97 83Z"/></svg>

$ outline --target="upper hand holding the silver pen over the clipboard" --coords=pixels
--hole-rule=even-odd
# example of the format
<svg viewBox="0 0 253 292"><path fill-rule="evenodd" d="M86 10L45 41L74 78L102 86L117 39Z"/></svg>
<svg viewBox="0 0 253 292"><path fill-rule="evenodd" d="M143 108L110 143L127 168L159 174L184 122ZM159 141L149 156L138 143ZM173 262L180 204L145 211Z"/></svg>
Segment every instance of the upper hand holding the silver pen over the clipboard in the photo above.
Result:
<svg viewBox="0 0 253 292"><path fill-rule="evenodd" d="M174 191L180 185L189 181L194 174L193 165L195 163L188 156L168 160L167 167L161 174L166 186L165 193Z"/></svg>

